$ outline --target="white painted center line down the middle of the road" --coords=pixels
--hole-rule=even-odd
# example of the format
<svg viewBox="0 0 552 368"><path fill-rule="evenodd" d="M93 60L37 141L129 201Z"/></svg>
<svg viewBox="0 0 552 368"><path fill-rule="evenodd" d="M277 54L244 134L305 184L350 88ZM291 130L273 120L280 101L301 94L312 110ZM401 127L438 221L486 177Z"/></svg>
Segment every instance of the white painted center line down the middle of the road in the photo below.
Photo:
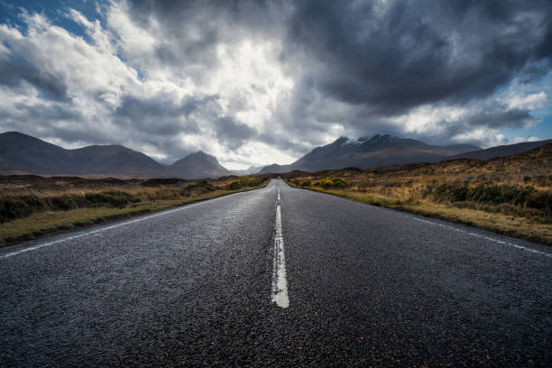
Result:
<svg viewBox="0 0 552 368"><path fill-rule="evenodd" d="M280 198L280 189L279 189ZM288 281L286 280L286 258L283 249L283 235L281 233L281 209L276 206L276 234L274 235L274 261L272 263L272 302L278 307L288 308Z"/></svg>

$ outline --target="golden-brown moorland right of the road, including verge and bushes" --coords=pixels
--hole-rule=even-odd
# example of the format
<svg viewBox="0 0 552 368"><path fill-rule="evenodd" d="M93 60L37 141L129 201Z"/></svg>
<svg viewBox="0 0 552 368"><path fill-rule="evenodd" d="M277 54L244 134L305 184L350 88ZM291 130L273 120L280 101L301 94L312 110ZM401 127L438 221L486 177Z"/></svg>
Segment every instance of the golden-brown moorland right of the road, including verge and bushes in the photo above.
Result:
<svg viewBox="0 0 552 368"><path fill-rule="evenodd" d="M486 161L292 171L283 177L296 188L552 244L552 144Z"/></svg>

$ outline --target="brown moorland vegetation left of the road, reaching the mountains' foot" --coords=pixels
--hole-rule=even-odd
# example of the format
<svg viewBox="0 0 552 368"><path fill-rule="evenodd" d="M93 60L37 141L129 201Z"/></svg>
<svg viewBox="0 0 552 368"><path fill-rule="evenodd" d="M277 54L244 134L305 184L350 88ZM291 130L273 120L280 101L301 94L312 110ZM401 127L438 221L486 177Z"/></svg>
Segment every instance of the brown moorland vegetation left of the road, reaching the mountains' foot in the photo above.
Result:
<svg viewBox="0 0 552 368"><path fill-rule="evenodd" d="M220 179L0 176L0 245L266 186L270 175Z"/></svg>

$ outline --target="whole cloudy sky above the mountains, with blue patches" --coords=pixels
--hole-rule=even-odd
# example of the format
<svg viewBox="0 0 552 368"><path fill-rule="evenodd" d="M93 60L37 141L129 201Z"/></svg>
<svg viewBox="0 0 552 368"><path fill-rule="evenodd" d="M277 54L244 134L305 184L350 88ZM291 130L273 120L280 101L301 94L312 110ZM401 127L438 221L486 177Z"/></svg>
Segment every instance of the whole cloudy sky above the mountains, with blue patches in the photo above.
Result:
<svg viewBox="0 0 552 368"><path fill-rule="evenodd" d="M162 163L552 138L552 3L0 0L0 132Z"/></svg>

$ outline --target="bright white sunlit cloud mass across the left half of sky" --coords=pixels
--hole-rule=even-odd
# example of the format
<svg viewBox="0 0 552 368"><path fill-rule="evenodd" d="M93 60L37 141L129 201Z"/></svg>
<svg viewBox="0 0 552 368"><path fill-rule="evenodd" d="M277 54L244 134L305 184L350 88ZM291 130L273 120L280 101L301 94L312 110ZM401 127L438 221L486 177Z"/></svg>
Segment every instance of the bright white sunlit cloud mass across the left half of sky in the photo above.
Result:
<svg viewBox="0 0 552 368"><path fill-rule="evenodd" d="M216 68L196 70L199 83L178 68L161 68L155 55L161 36L133 24L124 11L124 3L109 7L104 29L70 9L67 15L85 27L88 40L40 14L23 15L24 33L0 25L7 45L2 60L25 60L14 67L14 85L0 87L2 127L65 146L77 138L123 143L161 161L198 149L230 166L290 160L254 139L270 132L273 111L293 87L278 66L278 43L217 44ZM242 142L244 133L251 142Z"/></svg>

